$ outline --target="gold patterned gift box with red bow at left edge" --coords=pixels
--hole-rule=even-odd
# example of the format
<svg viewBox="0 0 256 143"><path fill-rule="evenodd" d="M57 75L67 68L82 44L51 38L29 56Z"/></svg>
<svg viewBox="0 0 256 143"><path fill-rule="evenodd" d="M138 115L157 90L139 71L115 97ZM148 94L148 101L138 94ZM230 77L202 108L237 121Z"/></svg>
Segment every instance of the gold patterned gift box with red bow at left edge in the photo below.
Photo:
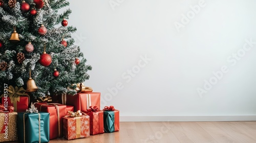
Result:
<svg viewBox="0 0 256 143"><path fill-rule="evenodd" d="M17 112L13 112L14 108L10 106L5 109L0 104L0 142L17 141Z"/></svg>

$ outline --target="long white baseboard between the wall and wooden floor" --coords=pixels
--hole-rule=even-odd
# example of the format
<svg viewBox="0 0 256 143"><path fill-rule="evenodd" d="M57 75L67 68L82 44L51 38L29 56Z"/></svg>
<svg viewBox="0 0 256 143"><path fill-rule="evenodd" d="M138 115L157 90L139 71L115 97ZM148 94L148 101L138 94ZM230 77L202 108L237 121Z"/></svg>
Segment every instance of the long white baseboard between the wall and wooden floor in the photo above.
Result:
<svg viewBox="0 0 256 143"><path fill-rule="evenodd" d="M212 116L120 116L120 122L218 122L256 121L256 115Z"/></svg>

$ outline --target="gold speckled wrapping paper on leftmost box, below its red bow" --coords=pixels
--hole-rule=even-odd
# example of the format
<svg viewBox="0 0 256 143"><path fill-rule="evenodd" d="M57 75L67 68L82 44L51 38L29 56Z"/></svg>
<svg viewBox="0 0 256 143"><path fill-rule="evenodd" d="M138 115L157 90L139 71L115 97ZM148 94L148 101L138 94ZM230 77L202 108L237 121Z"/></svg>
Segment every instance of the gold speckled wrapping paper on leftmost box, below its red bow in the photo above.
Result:
<svg viewBox="0 0 256 143"><path fill-rule="evenodd" d="M4 128L5 115L8 114L8 131L0 133L0 142L17 141L17 112L4 113L0 112L0 131Z"/></svg>

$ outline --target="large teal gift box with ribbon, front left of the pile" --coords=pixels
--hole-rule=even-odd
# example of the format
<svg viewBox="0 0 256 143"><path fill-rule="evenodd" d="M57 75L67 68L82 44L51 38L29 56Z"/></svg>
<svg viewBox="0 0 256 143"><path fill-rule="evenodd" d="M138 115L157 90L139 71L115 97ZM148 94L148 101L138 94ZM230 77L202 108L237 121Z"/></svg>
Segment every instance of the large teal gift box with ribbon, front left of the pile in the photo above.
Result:
<svg viewBox="0 0 256 143"><path fill-rule="evenodd" d="M46 112L20 112L17 116L19 142L49 142L49 117Z"/></svg>

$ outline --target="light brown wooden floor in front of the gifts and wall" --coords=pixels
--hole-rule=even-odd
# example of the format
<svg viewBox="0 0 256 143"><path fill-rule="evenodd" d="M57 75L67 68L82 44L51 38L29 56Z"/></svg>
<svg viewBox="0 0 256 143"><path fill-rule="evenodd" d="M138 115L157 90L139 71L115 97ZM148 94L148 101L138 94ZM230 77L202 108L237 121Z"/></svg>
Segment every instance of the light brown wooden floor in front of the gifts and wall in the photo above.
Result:
<svg viewBox="0 0 256 143"><path fill-rule="evenodd" d="M120 131L62 142L256 142L256 122L121 122Z"/></svg>

